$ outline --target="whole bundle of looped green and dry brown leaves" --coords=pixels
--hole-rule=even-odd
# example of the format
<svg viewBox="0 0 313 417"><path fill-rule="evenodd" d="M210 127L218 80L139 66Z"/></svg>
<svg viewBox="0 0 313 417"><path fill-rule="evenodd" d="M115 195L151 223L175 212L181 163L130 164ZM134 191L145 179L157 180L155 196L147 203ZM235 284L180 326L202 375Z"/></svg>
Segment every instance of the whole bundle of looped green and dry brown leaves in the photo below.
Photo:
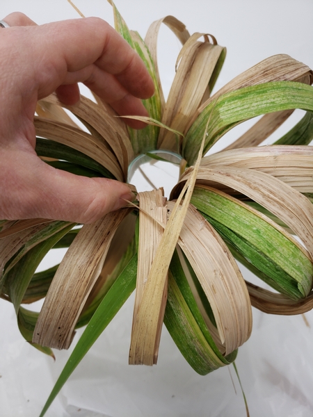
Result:
<svg viewBox="0 0 313 417"><path fill-rule="evenodd" d="M225 48L190 35L168 16L143 41L112 3L116 30L141 56L155 84L150 118L127 128L98 97L66 107L38 102L36 152L61 170L127 181L131 161L159 150L182 158L169 201L163 190L138 193L127 208L93 224L46 219L1 221L1 297L12 302L26 341L47 354L70 346L87 325L42 411L136 288L129 363L157 363L164 322L193 369L205 375L232 363L250 336L251 305L274 314L312 309L313 73L286 55L263 60L211 95ZM166 24L182 42L167 101L157 66ZM294 109L306 111L275 144L262 142ZM262 117L223 152L204 156L227 131ZM155 156L154 156L155 157ZM159 158L159 157L155 157ZM36 273L56 247L60 265ZM239 261L273 288L245 281ZM25 309L45 297L40 313Z"/></svg>

